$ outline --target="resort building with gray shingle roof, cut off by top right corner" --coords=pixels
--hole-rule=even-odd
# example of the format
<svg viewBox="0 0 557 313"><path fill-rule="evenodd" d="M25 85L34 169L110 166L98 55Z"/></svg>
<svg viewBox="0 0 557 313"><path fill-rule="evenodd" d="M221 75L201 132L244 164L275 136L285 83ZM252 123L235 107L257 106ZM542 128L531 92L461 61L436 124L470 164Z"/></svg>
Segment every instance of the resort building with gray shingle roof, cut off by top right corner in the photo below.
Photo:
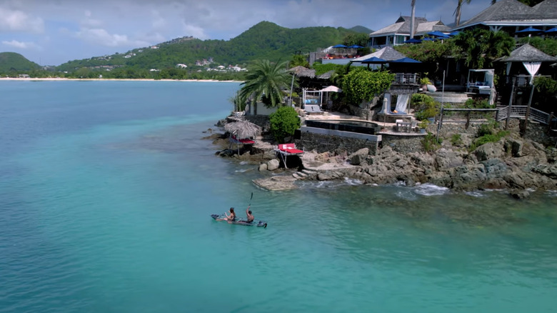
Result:
<svg viewBox="0 0 557 313"><path fill-rule="evenodd" d="M556 26L557 0L545 0L532 7L518 0L499 0L452 30L463 31L482 27L491 31L503 30L509 34L517 34L528 27L546 31ZM524 34L528 36L528 33Z"/></svg>

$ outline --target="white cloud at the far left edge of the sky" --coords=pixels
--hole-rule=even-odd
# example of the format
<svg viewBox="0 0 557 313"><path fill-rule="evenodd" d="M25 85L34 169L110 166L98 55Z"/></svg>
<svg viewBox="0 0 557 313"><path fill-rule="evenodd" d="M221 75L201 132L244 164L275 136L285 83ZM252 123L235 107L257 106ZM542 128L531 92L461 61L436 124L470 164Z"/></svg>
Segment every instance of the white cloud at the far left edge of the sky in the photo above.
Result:
<svg viewBox="0 0 557 313"><path fill-rule="evenodd" d="M44 21L40 17L30 16L24 11L0 7L0 32L21 31L41 34Z"/></svg>

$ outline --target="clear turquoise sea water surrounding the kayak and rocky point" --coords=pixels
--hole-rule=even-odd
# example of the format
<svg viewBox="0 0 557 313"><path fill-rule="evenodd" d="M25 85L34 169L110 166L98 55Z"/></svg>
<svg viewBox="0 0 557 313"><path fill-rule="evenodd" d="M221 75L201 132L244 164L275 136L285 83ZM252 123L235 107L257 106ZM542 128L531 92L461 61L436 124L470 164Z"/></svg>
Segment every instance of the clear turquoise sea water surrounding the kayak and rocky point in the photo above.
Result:
<svg viewBox="0 0 557 313"><path fill-rule="evenodd" d="M238 88L1 82L0 312L555 311L556 193L266 192L201 139Z"/></svg>

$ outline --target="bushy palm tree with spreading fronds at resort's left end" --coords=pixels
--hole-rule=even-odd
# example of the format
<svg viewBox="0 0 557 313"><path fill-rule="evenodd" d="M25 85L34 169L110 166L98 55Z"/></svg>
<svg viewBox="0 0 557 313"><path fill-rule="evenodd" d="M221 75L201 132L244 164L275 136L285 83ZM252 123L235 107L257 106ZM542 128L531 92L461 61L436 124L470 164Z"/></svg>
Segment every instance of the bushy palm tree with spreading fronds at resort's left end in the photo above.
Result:
<svg viewBox="0 0 557 313"><path fill-rule="evenodd" d="M243 101L250 96L261 101L268 107L281 104L283 89L290 89L291 76L286 71L286 64L271 63L269 60L257 60L246 75L246 81L241 85L240 97Z"/></svg>

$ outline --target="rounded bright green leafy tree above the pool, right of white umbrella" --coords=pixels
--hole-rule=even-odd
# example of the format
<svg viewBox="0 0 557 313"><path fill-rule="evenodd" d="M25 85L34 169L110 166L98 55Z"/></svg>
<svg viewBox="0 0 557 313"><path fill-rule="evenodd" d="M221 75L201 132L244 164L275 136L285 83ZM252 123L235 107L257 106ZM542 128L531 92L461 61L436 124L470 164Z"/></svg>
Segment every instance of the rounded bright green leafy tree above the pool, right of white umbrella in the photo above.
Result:
<svg viewBox="0 0 557 313"><path fill-rule="evenodd" d="M389 89L393 79L394 74L388 71L368 71L362 67L352 69L341 80L343 96L351 104L371 101L373 96Z"/></svg>

